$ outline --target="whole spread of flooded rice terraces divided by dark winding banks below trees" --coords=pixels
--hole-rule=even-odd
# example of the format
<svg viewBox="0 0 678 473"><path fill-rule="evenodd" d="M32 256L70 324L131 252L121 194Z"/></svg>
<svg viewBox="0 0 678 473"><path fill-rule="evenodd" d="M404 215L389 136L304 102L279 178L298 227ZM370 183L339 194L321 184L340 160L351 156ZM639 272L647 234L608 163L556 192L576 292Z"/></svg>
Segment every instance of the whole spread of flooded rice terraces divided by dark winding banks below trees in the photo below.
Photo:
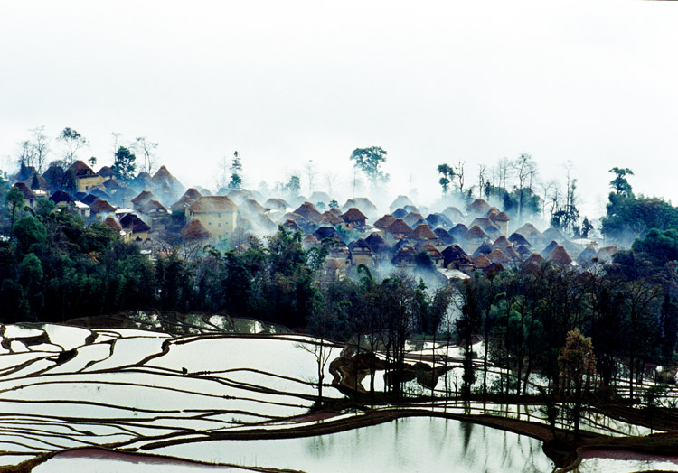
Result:
<svg viewBox="0 0 678 473"><path fill-rule="evenodd" d="M461 369L457 347L411 346L409 360L425 360L444 350L449 377L440 376L433 397L411 398L398 406L341 407L346 396L333 384L337 373L327 363L323 396L334 408L315 412L318 363L313 348L319 340L246 320L237 324L246 333L225 334L219 332L220 323L212 320L215 329L184 335L151 327L4 327L0 468L12 470L31 459L41 459L24 463L33 471L84 471L91 466L119 471L128 469L127 464L134 464L135 471L252 467L309 473L555 468L539 436L466 420L492 415L546 425L540 405L443 398ZM344 348L325 349L334 360ZM475 351L482 349L479 343ZM501 370L492 367L491 374L500 376ZM375 386L383 389L383 370L374 377ZM369 378L361 383L369 389ZM431 392L416 380L409 386L410 394ZM650 433L594 412L585 413L582 429L612 436ZM579 468L595 471L604 464L610 471L634 471L624 468L640 465L637 461L650 460L606 458L594 451ZM663 469L676 466L671 459L657 461Z"/></svg>

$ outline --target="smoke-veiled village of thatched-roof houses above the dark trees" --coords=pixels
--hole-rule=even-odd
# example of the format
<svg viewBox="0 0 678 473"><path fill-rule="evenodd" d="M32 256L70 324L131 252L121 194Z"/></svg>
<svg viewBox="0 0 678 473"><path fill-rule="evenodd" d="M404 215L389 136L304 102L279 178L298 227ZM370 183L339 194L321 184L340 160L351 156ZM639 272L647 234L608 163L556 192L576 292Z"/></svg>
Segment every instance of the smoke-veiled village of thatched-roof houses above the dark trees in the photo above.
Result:
<svg viewBox="0 0 678 473"><path fill-rule="evenodd" d="M71 192L63 190L62 176L69 176ZM57 209L114 228L124 240L146 246L149 254L154 241L167 236L200 244L229 239L239 245L250 234L275 234L279 225L298 230L306 248L329 244L329 278L342 277L359 264L377 270L415 267L420 252L447 279L466 278L477 270L539 267L543 261L607 262L617 252L615 246L570 240L556 228L540 231L531 223L513 228L512 219L484 199L463 210L449 206L433 212L399 196L383 215L366 198L330 207L334 201L324 192L287 201L256 190L222 189L218 195L202 188L185 190L165 166L127 182L106 166L94 172L81 161L61 173L53 167L42 175L23 168L13 178L25 205L35 208L40 198L50 199Z"/></svg>

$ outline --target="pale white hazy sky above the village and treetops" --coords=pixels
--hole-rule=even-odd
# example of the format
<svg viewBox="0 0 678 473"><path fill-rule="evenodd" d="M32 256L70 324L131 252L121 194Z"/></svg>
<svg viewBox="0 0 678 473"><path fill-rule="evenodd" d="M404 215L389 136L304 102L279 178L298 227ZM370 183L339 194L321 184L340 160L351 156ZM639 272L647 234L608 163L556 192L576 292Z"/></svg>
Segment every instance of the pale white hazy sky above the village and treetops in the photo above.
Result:
<svg viewBox="0 0 678 473"><path fill-rule="evenodd" d="M3 2L0 165L29 128L71 126L100 164L112 132L158 142L184 185L213 187L238 150L250 187L313 160L348 190L353 148L379 145L393 196L436 198L441 162L476 175L524 152L544 180L571 160L589 215L613 166L678 202L676 17L591 0Z"/></svg>

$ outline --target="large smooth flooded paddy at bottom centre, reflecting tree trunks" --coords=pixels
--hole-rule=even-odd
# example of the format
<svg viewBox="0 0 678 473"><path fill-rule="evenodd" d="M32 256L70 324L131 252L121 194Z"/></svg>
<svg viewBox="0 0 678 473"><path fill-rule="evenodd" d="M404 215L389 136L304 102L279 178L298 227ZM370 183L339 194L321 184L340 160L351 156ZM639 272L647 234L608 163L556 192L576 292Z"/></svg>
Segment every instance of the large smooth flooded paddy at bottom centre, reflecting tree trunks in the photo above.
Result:
<svg viewBox="0 0 678 473"><path fill-rule="evenodd" d="M415 417L318 437L211 441L153 450L188 459L328 471L455 473L544 472L553 463L541 442L513 432L439 418ZM214 456L218 455L218 459Z"/></svg>

